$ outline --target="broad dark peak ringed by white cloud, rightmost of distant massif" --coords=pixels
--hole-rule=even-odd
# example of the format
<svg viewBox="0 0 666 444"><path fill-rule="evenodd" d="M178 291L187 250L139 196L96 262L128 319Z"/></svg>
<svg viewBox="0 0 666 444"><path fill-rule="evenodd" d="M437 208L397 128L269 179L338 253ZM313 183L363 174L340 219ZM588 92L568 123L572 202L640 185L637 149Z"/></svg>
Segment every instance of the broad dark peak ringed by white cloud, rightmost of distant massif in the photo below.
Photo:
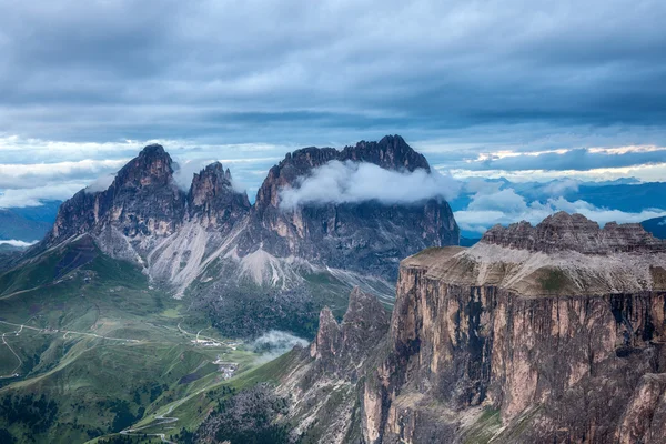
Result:
<svg viewBox="0 0 666 444"><path fill-rule="evenodd" d="M296 256L326 266L369 272L394 280L400 259L427 246L457 245L460 230L444 200L410 205L321 203L284 209L280 193L330 161L371 162L395 171L431 171L425 158L400 135L359 142L341 151L305 148L273 167L256 193L239 254L258 249L278 258Z"/></svg>

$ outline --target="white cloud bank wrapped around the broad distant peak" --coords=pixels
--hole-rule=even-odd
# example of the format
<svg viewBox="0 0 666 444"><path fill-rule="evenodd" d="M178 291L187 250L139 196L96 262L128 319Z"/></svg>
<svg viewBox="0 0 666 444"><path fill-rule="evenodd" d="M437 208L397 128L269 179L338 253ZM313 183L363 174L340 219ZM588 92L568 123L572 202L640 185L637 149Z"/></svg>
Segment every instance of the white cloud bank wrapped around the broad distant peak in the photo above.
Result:
<svg viewBox="0 0 666 444"><path fill-rule="evenodd" d="M280 206L379 201L408 204L427 199L451 200L460 183L446 174L416 170L398 172L365 162L331 161L303 176L294 188L283 189Z"/></svg>

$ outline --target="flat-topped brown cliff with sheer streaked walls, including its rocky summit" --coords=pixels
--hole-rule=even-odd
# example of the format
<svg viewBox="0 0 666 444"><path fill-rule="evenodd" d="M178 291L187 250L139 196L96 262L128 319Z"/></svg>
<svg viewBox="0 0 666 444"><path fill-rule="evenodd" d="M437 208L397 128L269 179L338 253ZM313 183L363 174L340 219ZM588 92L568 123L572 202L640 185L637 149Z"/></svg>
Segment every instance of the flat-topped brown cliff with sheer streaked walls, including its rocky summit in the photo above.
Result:
<svg viewBox="0 0 666 444"><path fill-rule="evenodd" d="M634 225L593 224L557 214L403 261L365 441L478 440L482 408L498 412L486 441L653 440L663 375L644 375L666 371L666 254Z"/></svg>

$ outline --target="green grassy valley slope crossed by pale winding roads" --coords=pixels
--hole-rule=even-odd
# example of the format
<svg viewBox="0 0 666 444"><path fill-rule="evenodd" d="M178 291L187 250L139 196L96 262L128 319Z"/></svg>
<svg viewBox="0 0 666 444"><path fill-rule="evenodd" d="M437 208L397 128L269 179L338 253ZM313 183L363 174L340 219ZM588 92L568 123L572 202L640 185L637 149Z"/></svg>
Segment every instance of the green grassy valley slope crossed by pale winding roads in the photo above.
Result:
<svg viewBox="0 0 666 444"><path fill-rule="evenodd" d="M179 301L149 290L139 269L85 241L0 276L0 333L20 329L7 323L24 325L20 334L6 335L22 365L20 377L0 380L0 401L44 394L58 404L54 425L39 435L0 417L0 428L20 442L85 442L121 424L150 423L181 402L183 417L172 425L193 427L214 402L205 393L224 383L212 361L221 355L239 363L240 372L254 365L255 356L242 346L192 344L209 325L189 319ZM202 334L214 336L212 330ZM0 375L18 363L0 344Z"/></svg>

